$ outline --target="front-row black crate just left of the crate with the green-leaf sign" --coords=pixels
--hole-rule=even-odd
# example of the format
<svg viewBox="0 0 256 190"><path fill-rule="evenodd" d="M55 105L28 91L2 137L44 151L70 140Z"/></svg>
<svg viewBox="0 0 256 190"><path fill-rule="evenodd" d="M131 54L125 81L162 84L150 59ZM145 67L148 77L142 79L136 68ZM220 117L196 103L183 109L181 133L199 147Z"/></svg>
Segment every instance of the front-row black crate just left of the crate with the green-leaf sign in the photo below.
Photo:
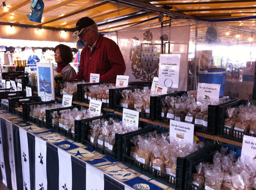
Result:
<svg viewBox="0 0 256 190"><path fill-rule="evenodd" d="M79 110L82 106L77 105L77 106L69 106L69 107L60 107L60 108L55 108L51 110L46 110L46 127L49 129L52 129L61 135L75 141L75 142L80 142L81 141L81 121L83 120L75 120L74 127L75 131L72 133L71 131L68 131L62 127L56 126L52 123L52 113L57 112L58 115L60 114L60 111L62 110L73 110L75 107L78 107Z"/></svg>

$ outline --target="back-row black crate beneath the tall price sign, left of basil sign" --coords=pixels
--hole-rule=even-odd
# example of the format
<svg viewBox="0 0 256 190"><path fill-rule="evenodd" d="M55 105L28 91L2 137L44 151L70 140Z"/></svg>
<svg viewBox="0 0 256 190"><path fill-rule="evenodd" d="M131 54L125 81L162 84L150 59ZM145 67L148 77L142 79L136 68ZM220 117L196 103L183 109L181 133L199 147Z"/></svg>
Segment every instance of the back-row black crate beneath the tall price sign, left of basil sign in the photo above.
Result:
<svg viewBox="0 0 256 190"><path fill-rule="evenodd" d="M177 92L173 92L173 93L169 93L169 94L163 94L160 96L156 97L156 120L164 122L164 123L170 123L170 119L167 117L162 117L161 113L162 113L162 99L164 99L167 96L182 96L183 94L187 94L186 91L177 91Z"/></svg>

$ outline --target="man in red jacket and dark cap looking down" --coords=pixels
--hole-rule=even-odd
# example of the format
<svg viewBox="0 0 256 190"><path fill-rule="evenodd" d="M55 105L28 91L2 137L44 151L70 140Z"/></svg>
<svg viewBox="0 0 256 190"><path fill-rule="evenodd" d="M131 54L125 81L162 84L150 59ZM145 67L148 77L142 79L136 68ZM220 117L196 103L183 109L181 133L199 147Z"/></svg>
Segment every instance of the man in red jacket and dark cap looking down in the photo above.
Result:
<svg viewBox="0 0 256 190"><path fill-rule="evenodd" d="M116 75L123 75L125 63L118 45L111 39L98 34L98 26L89 17L83 17L76 23L76 32L86 45L81 51L78 73L72 79L86 79L90 82L90 73L100 74L99 82L116 82Z"/></svg>

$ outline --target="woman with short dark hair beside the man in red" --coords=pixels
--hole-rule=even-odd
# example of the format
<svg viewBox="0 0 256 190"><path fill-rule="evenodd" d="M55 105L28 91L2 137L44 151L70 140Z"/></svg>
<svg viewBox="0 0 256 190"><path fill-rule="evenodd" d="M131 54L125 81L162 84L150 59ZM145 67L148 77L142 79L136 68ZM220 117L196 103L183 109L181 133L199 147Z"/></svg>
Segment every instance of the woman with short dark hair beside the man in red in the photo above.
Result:
<svg viewBox="0 0 256 190"><path fill-rule="evenodd" d="M69 64L73 60L72 50L69 46L59 44L54 49L54 58L57 63L57 71L61 74L63 80L70 80L76 75L76 71Z"/></svg>

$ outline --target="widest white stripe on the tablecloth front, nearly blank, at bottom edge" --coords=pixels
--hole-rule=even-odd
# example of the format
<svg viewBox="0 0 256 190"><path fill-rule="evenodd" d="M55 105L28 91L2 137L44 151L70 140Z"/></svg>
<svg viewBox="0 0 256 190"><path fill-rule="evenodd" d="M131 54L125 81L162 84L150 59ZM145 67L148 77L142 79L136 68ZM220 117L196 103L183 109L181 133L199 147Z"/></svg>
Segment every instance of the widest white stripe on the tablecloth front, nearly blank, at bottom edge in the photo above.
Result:
<svg viewBox="0 0 256 190"><path fill-rule="evenodd" d="M95 167L86 163L86 189L104 189L104 174Z"/></svg>

